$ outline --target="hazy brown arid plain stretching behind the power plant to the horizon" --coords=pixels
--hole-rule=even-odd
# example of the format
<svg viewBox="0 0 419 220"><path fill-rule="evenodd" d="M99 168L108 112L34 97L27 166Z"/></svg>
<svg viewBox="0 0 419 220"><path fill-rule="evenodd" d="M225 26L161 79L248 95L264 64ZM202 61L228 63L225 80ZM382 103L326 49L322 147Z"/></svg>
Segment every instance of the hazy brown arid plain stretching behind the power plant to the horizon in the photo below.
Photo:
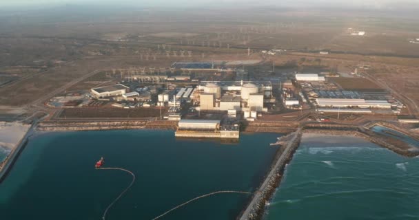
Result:
<svg viewBox="0 0 419 220"><path fill-rule="evenodd" d="M358 67L380 84L371 87L388 86L419 102L419 45L409 43L419 37L419 27L412 17L276 8L124 10L103 7L90 14L89 8L66 5L48 13L2 14L1 113L34 111L29 104L42 107L52 96L114 83L112 69L169 68L176 61L258 63L248 69L269 69L274 62L276 72L350 73ZM365 35L351 35L361 31ZM273 49L283 51L260 54Z"/></svg>

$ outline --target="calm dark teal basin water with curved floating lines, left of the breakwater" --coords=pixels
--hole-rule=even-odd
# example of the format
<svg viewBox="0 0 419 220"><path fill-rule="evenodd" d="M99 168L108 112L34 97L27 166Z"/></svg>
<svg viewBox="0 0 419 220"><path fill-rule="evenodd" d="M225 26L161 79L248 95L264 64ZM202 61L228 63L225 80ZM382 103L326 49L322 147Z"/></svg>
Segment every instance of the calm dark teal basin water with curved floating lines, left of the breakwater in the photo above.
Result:
<svg viewBox="0 0 419 220"><path fill-rule="evenodd" d="M47 133L30 140L0 185L0 219L101 219L136 175L107 219L152 219L217 190L254 191L272 162L277 134L241 135L238 144L176 140L172 131ZM216 195L162 219L234 219L250 195Z"/></svg>

